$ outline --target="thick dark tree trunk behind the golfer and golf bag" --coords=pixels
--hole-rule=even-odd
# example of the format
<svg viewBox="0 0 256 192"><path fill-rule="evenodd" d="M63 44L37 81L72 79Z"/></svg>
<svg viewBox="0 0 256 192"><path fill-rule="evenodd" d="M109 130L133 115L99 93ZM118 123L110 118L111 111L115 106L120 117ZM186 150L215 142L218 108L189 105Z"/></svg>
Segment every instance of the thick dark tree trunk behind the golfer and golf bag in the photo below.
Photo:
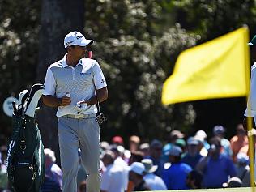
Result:
<svg viewBox="0 0 256 192"><path fill-rule="evenodd" d="M41 9L41 31L37 82L44 83L48 66L60 60L64 53L64 37L70 31L83 33L83 0L43 0ZM56 109L42 106L37 115L41 137L45 147L50 147L57 154L59 164L58 132L55 116Z"/></svg>

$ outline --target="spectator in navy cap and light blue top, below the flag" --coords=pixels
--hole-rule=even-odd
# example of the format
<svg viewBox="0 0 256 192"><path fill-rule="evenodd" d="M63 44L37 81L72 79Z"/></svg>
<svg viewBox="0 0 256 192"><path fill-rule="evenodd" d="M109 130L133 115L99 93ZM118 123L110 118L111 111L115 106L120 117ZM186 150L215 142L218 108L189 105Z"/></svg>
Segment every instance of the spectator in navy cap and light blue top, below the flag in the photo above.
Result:
<svg viewBox="0 0 256 192"><path fill-rule="evenodd" d="M226 130L223 126L214 126L213 127L213 134L216 137L219 137L221 139L221 146L222 146L221 153L223 153L226 156L232 156L232 150L230 147L230 143L229 143L228 139L224 138L225 131Z"/></svg>

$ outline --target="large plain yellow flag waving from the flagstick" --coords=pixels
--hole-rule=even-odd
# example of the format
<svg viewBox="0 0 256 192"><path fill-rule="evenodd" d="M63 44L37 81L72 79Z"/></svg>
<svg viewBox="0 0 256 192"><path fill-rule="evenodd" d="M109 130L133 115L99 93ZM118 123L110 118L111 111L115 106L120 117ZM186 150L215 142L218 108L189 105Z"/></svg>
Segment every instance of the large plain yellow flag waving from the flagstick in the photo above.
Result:
<svg viewBox="0 0 256 192"><path fill-rule="evenodd" d="M247 96L250 78L248 36L248 28L239 28L182 52L173 75L164 82L162 102L168 105Z"/></svg>

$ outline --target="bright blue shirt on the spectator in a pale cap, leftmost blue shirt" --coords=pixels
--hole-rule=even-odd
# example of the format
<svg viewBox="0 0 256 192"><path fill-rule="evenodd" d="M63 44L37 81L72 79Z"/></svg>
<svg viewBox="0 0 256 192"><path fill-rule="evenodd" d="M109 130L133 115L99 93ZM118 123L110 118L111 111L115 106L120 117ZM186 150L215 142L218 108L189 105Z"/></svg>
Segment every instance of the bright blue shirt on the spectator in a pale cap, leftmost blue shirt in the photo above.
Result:
<svg viewBox="0 0 256 192"><path fill-rule="evenodd" d="M184 163L172 164L162 175L168 190L186 190L186 177L192 171L190 165Z"/></svg>

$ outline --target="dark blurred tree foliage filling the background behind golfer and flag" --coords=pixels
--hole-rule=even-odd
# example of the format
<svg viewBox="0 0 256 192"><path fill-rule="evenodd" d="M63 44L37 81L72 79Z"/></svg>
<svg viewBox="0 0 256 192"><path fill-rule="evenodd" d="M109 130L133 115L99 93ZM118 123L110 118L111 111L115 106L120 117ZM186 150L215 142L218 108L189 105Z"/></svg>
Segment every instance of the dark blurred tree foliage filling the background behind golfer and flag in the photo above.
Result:
<svg viewBox="0 0 256 192"><path fill-rule="evenodd" d="M46 2L55 3L56 9L63 11L58 15L60 18L41 18ZM62 46L60 37L68 31L59 30L53 41L55 36L42 32L42 24L49 19L52 23L49 28L65 25L74 30L65 20L76 23L72 15L78 10L72 3L57 2L0 0L1 103L7 96L18 96L36 81L43 83L47 66L60 59L58 57L64 52L64 49L56 49L53 57L49 53ZM109 87L109 100L102 105L109 118L101 130L102 139L110 139L115 134L126 138L139 134L145 141L166 139L171 129L193 132L204 129L211 119L214 119L211 123L219 121L229 126L237 122L245 106L241 100L238 104L237 100L224 100L221 106L220 103L216 105L216 100L164 106L160 102L161 88L172 74L177 55L182 50L233 31L242 24L248 24L254 33L253 0L87 0L83 15L84 24L80 28L84 25L85 36L96 41L92 47L94 58L99 61ZM52 39L42 44L40 36L44 34ZM49 46L44 46L47 43ZM53 43L59 45L53 46ZM49 62L38 65L45 53ZM236 105L240 106L239 111ZM213 109L210 114L205 113L209 106ZM216 113L221 117L225 117L225 113L234 114L234 119L220 121ZM198 122L198 117L203 122ZM11 118L1 113L0 121L1 132L10 134ZM44 129L46 125L40 126Z"/></svg>

